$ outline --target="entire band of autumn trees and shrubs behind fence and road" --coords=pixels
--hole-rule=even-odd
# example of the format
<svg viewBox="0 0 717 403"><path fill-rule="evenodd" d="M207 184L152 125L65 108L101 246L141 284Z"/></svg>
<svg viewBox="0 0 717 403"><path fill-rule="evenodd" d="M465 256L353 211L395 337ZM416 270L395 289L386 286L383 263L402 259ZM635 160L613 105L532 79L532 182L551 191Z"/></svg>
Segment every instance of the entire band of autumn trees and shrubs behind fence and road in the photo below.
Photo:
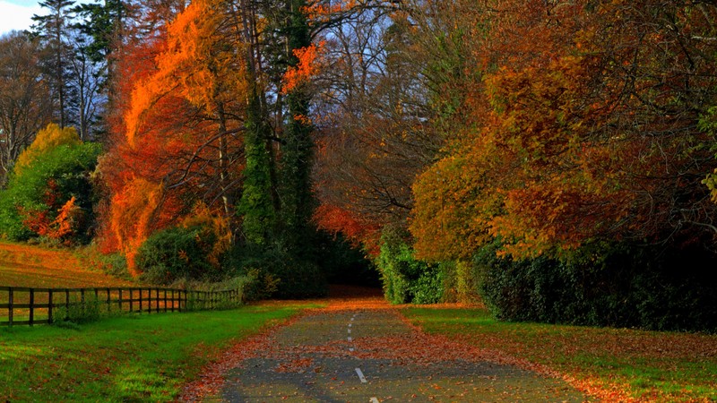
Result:
<svg viewBox="0 0 717 403"><path fill-rule="evenodd" d="M713 2L40 4L0 39L3 217L21 176L59 194L24 155L99 143L91 194L32 208L135 277L311 296L365 255L396 303L717 326ZM76 143L36 146L51 122Z"/></svg>

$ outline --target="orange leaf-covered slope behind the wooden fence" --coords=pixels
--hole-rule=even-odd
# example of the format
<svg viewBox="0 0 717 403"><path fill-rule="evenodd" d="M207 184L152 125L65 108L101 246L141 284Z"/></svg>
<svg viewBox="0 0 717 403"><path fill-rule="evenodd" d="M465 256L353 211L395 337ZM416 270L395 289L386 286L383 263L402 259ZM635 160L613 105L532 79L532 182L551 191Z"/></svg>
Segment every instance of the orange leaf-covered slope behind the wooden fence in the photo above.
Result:
<svg viewBox="0 0 717 403"><path fill-rule="evenodd" d="M0 286L7 287L131 287L112 278L76 254L28 244L0 242Z"/></svg>

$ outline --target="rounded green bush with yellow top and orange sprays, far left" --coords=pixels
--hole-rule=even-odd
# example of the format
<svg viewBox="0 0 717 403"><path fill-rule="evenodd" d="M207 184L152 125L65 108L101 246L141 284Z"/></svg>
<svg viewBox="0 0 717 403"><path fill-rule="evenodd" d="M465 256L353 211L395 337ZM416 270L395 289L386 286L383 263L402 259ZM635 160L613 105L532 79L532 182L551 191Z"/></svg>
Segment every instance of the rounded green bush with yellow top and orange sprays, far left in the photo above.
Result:
<svg viewBox="0 0 717 403"><path fill-rule="evenodd" d="M51 137L58 131L48 126L41 133ZM34 147L21 154L6 189L0 192L0 235L4 238L22 241L49 236L68 243L90 241L96 202L90 175L101 149L99 144L74 139L71 129L59 133L66 134L56 136L60 141L39 133L39 144L33 143ZM67 216L62 218L62 214Z"/></svg>

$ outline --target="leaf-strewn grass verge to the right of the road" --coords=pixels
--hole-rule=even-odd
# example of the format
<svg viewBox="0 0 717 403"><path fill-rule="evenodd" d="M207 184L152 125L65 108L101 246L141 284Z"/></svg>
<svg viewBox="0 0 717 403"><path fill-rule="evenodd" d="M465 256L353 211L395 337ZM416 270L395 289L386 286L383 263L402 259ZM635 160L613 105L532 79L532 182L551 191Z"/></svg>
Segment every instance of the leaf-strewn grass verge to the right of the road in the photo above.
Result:
<svg viewBox="0 0 717 403"><path fill-rule="evenodd" d="M544 364L635 399L717 401L717 336L497 322L484 309L405 308L429 333Z"/></svg>

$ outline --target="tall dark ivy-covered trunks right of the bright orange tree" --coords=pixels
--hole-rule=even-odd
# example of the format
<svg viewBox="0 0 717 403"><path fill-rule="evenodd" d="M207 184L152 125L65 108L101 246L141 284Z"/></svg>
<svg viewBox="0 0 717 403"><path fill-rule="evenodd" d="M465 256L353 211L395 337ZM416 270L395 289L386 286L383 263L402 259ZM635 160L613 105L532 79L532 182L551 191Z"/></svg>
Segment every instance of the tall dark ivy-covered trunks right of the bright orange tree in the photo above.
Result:
<svg viewBox="0 0 717 403"><path fill-rule="evenodd" d="M305 82L285 86L298 69L301 49L311 46L306 1L245 4L242 24L250 50L244 189L238 213L246 246L280 279L276 296L321 296L325 274L316 261L311 167L313 126ZM255 13L252 14L252 13ZM261 24L254 24L261 21ZM262 27L261 30L257 26ZM253 70L254 69L254 70ZM252 80L252 77L255 80Z"/></svg>

